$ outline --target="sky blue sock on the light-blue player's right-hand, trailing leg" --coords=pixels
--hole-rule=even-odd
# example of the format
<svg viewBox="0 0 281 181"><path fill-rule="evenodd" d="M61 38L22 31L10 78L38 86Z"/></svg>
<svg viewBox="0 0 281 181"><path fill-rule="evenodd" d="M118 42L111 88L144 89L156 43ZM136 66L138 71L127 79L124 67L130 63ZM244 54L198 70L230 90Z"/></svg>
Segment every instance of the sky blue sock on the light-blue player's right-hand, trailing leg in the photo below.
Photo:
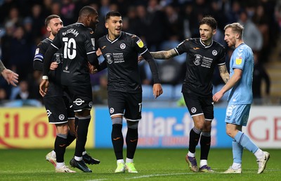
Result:
<svg viewBox="0 0 281 181"><path fill-rule="evenodd" d="M234 139L236 140L237 143L242 145L242 147L248 149L253 154L254 154L254 152L256 152L256 150L259 149L259 147L257 147L254 144L254 142L252 142L251 139L246 134L242 133L241 131L239 131L235 135Z"/></svg>

